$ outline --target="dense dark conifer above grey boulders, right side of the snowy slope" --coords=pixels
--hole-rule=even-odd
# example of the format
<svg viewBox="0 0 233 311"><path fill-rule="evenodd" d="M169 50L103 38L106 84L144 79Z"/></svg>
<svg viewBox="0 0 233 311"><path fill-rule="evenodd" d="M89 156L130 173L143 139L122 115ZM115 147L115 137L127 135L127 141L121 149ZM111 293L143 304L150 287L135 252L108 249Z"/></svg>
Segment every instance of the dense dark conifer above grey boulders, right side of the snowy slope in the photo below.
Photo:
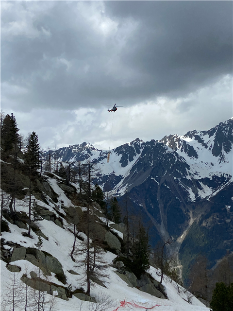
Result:
<svg viewBox="0 0 233 311"><path fill-rule="evenodd" d="M133 273L139 277L150 268L149 261L149 236L143 225L139 224L136 241L133 245Z"/></svg>

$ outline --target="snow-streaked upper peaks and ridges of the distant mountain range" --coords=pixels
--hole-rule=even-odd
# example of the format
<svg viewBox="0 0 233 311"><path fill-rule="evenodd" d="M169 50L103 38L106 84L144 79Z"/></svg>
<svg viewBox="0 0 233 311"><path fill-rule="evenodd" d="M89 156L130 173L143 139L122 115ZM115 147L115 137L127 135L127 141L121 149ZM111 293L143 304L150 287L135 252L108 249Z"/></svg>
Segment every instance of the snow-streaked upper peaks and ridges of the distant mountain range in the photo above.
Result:
<svg viewBox="0 0 233 311"><path fill-rule="evenodd" d="M122 195L136 184L145 181L150 174L149 171L154 166L158 166L161 159L168 160L170 166L178 162L180 173L185 178L199 180L198 196L206 198L217 189L219 190L219 183L222 187L231 180L232 146L233 118L219 123L209 131L194 130L183 136L169 135L161 140L152 139L147 142L136 138L130 143L111 150L109 163L107 163L108 151L98 150L86 142L60 148L56 151L56 157L58 161L69 162L74 166L76 162L90 158L101 170L99 183L105 190L110 190L117 195ZM143 176L139 172L140 163L144 163ZM170 170L169 167L166 169ZM215 182L214 176L221 181ZM208 184L207 180L204 182L202 180L206 178L209 179ZM192 187L187 186L186 190L189 199L195 200L194 188L192 190Z"/></svg>

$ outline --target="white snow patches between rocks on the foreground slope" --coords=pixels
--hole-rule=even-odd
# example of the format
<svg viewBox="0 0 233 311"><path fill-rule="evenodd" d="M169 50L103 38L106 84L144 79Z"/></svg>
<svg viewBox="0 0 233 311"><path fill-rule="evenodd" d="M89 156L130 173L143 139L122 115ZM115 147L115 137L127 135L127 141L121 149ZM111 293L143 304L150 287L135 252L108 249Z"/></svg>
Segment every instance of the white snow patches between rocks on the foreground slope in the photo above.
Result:
<svg viewBox="0 0 233 311"><path fill-rule="evenodd" d="M70 200L66 197L64 191L60 189L57 185L57 181L55 179L51 179L48 177L48 181L53 190L59 195L58 201L66 202L67 206L71 205ZM40 205L42 203L38 201ZM55 207L52 203L50 206L46 205L47 208L53 210L54 213ZM26 211L25 203L17 200L16 209L18 211L24 210ZM102 218L104 221L104 218ZM8 223L11 232L2 232L1 238L5 239L5 241L15 242L24 247L35 247L34 243L38 241L37 236L32 231L32 239L28 237L22 236L22 232L25 229L19 228L17 225L12 225ZM49 241L43 240L43 245L41 250L50 253L52 256L57 258L63 267L64 273L67 276L67 284L72 285L72 290L76 288L80 288L82 285L81 278L83 276L83 268L77 267L76 263L73 262L69 256L70 249L73 244L73 235L66 229L59 227L51 221L43 220L37 223L41 231L49 237ZM120 233L117 232L120 236ZM82 234L83 238L85 235ZM80 241L78 240L77 243ZM112 260L116 258L116 255L107 252L104 253L104 259L108 263L112 263ZM21 271L17 273L18 276L22 276L27 272L29 273L33 270L38 269L33 266L33 264L27 260L17 260L15 262L11 262L12 265L17 265L21 267ZM78 275L73 275L68 272L68 270L74 270L79 273ZM115 268L110 267L108 270L109 279L106 282L106 288L101 287L100 285L96 285L91 288L91 296L96 297L96 299L101 299L103 294L107 294L113 299L114 306L108 309L108 311L114 311L116 308L118 310L141 310L141 309L150 309L158 310L158 311L206 311L208 310L197 298L192 297L192 295L187 292L180 285L177 285L174 281L170 283L170 279L165 277L163 280L163 285L166 289L166 294L168 299L160 299L150 294L139 291L137 288L131 288L125 283L119 276L114 273L116 271ZM153 267L150 267L150 274L156 279L159 280L159 271ZM4 296L7 296L7 282L9 282L10 276L13 275L12 272L6 269L6 262L0 260L0 293L1 300L3 300ZM50 276L50 281L63 285L60 281L55 278L54 274ZM84 286L84 290L85 290ZM75 296L69 298L68 301L62 300L60 298L55 297L56 301L56 311L88 311L90 310L90 303L82 301ZM122 302L125 301L125 304ZM189 302L188 302L189 301ZM1 310L1 309L0 309ZM17 311L17 309L15 309Z"/></svg>

